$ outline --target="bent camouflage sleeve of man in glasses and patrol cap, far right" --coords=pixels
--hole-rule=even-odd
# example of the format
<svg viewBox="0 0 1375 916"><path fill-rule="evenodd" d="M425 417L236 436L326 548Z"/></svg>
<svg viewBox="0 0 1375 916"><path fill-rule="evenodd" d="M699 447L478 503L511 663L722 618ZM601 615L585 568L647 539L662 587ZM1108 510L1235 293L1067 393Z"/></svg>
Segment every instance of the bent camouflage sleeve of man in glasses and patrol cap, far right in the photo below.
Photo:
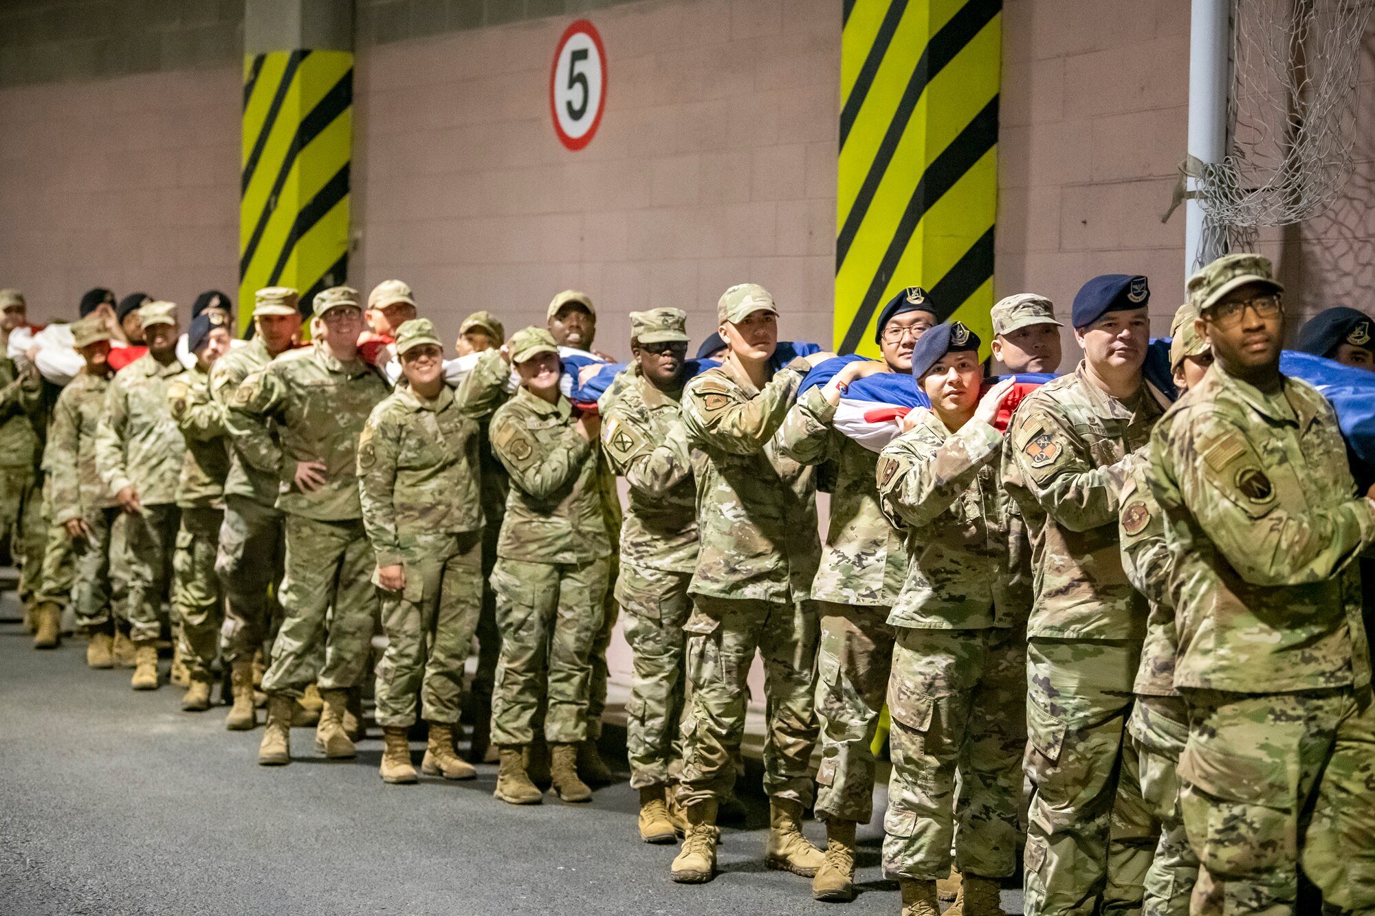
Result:
<svg viewBox="0 0 1375 916"><path fill-rule="evenodd" d="M1375 506L1368 499L1287 509L1240 426L1216 415L1184 426L1170 443L1184 503L1246 582L1321 582L1375 539Z"/></svg>

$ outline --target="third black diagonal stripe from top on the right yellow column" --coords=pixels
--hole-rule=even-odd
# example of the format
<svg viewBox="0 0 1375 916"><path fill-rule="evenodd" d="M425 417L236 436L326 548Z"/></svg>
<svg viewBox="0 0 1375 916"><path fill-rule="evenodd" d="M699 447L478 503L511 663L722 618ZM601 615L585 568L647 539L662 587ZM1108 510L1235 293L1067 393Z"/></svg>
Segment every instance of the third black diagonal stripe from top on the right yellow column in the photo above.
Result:
<svg viewBox="0 0 1375 916"><path fill-rule="evenodd" d="M931 161L927 171L921 173L921 180L917 182L917 187L912 191L912 198L908 201L908 206L892 232L888 250L884 252L883 260L879 263L879 270L874 271L855 316L850 319L850 329L846 331L844 342L840 345L842 352L854 352L854 348L859 345L859 337L879 307L879 297L883 294L884 287L888 286L888 281L892 279L892 272L898 268L898 261L902 260L903 252L908 250L908 243L912 241L912 234L917 230L917 223L997 142L998 96L993 96L983 106L983 110L974 116L974 120L950 142L950 146L943 149ZM918 278L917 282L921 282L921 279ZM938 301L935 292L932 292L931 297L932 301Z"/></svg>

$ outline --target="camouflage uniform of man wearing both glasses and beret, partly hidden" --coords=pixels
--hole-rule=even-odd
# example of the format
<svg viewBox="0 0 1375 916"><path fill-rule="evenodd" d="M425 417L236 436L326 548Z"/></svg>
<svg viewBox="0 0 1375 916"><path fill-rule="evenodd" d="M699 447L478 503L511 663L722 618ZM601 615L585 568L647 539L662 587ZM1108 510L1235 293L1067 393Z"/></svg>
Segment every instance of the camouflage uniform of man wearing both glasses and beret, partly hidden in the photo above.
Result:
<svg viewBox="0 0 1375 916"><path fill-rule="evenodd" d="M873 737L888 690L894 630L888 612L908 569L902 535L879 508L873 452L832 428L836 408L818 385L788 411L780 454L833 462L830 527L811 597L821 612L817 719L821 767L817 816L868 824L873 817Z"/></svg>

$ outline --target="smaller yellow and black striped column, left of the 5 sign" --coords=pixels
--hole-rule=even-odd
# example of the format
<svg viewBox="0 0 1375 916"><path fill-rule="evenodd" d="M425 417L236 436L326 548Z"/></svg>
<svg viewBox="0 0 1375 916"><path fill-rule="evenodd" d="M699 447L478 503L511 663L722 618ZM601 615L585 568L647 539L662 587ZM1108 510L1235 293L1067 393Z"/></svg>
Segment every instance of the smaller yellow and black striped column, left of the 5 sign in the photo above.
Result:
<svg viewBox="0 0 1375 916"><path fill-rule="evenodd" d="M270 51L243 59L239 309L253 293L315 293L348 275L353 55Z"/></svg>

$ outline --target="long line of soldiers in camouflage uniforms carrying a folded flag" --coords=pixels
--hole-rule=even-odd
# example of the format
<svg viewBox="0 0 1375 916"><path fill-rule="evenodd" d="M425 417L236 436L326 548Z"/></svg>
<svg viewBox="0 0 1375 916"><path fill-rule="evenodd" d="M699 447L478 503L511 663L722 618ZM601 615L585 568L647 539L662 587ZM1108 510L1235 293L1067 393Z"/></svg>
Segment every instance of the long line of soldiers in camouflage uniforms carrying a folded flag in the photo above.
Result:
<svg viewBox="0 0 1375 916"><path fill-rule="evenodd" d="M1286 309L1261 257L1189 281L1173 404L1143 375L1145 278L1094 278L1072 307L1082 362L1005 426L1013 381L986 384L978 336L920 287L880 314L880 359L800 395L833 353L771 364L780 311L756 285L720 297L698 353L720 364L698 374L685 312L634 312L632 362L600 410L560 388L561 352L595 333L576 292L509 340L469 316L451 360L399 281L366 303L315 296L308 345L296 290L257 293L246 342L227 298L202 296L180 359L169 303L94 290L80 320L34 333L23 298L0 298L18 342L0 364L3 521L36 645L59 640L70 593L89 664L155 689L170 589L183 708L209 708L223 666L227 728L267 706L263 765L289 763L290 728L316 719L316 748L353 756L380 623L381 777L417 781L417 715L421 772L473 777L455 739L476 634L470 759L495 748L505 802L538 803L542 778L584 802L610 778L595 741L624 612L638 827L683 838L676 882L715 875L758 652L766 862L818 899L854 897L887 703L883 865L905 916L939 913L952 862L956 906L1001 913L1023 847L1034 915L1276 915L1305 912L1305 893L1375 912L1357 571L1375 487L1357 491L1323 396L1279 371ZM1050 301L1011 296L991 319L1009 373L1059 369ZM1375 366L1354 309L1299 345ZM44 370L72 353L70 381ZM47 413L40 370L66 381ZM910 373L931 402L881 452L833 422L873 373Z"/></svg>

